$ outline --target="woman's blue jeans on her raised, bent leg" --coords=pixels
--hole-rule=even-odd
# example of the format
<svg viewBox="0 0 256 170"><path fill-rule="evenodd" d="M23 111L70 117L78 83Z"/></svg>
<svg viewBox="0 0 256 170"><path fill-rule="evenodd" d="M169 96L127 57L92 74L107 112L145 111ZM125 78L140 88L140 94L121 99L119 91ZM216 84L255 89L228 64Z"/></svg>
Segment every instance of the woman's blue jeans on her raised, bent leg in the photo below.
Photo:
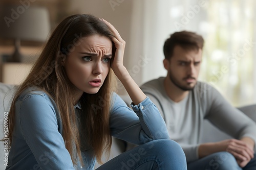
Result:
<svg viewBox="0 0 256 170"><path fill-rule="evenodd" d="M173 140L158 139L139 145L104 163L97 170L183 170L186 158L180 145Z"/></svg>

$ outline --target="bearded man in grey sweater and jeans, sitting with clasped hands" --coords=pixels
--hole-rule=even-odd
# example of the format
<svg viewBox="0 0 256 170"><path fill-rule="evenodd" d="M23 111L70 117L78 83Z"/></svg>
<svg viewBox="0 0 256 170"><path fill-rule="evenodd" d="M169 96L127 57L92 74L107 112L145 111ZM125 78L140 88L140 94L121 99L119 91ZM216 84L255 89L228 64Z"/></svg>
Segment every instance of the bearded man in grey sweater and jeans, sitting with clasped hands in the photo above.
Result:
<svg viewBox="0 0 256 170"><path fill-rule="evenodd" d="M188 170L256 169L256 124L214 87L197 81L203 45L202 36L193 32L170 35L163 47L167 76L146 82L141 89L162 114L170 139L183 148ZM204 119L233 139L200 143Z"/></svg>

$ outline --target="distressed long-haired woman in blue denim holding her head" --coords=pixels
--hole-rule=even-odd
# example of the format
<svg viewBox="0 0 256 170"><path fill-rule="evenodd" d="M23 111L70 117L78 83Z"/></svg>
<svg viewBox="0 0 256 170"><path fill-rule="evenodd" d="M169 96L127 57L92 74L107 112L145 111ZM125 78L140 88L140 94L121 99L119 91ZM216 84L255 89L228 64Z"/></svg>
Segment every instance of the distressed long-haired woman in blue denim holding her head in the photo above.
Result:
<svg viewBox="0 0 256 170"><path fill-rule="evenodd" d="M140 145L98 169L186 169L159 111L123 66L124 46L109 22L92 15L57 26L14 96L6 169L93 169L111 136ZM114 74L134 111L114 92Z"/></svg>

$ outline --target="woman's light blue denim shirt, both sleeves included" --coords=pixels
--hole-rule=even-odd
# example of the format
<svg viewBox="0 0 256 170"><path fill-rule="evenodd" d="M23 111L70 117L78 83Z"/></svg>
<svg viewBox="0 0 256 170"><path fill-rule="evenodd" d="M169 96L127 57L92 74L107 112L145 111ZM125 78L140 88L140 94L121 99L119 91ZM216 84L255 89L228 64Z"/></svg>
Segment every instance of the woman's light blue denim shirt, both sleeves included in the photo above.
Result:
<svg viewBox="0 0 256 170"><path fill-rule="evenodd" d="M147 97L127 107L116 93L112 96L110 128L114 137L142 144L169 138L158 109ZM44 91L25 90L16 101L15 129L6 169L93 169L93 150L82 152L84 166L73 165L62 137L62 123L55 102ZM74 109L80 109L76 105Z"/></svg>

